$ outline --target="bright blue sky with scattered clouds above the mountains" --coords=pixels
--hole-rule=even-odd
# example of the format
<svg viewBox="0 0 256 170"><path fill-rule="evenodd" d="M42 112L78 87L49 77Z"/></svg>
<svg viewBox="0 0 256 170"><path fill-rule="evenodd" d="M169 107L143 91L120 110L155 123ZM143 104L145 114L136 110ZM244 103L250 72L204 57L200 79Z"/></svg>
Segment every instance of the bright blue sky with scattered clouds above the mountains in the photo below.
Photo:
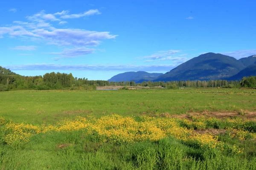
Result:
<svg viewBox="0 0 256 170"><path fill-rule="evenodd" d="M1 0L0 66L108 80L207 52L256 54L255 0Z"/></svg>

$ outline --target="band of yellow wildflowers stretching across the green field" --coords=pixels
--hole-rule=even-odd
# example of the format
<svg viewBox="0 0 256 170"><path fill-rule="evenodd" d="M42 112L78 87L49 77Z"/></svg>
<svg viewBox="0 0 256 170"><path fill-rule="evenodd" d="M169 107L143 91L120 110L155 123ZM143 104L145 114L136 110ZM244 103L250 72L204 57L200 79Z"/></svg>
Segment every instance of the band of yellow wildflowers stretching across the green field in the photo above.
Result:
<svg viewBox="0 0 256 170"><path fill-rule="evenodd" d="M0 123L5 124L6 142L13 144L16 142L29 142L31 136L38 133L50 132L72 132L83 130L85 135L94 135L102 142L112 143L133 143L143 141L158 141L168 136L172 136L185 144L194 144L199 147L220 148L221 150L231 150L234 153L241 153L243 149L236 146L228 146L218 140L218 136L211 133L198 134L193 130L205 129L207 126L216 126L225 122L226 134L230 138L240 140L256 139L254 132L249 132L239 127L247 127L247 120L224 119L214 117L194 116L192 119L179 118L156 118L141 116L140 121L136 121L131 116L119 116L113 114L103 116L100 119L94 117L86 119L78 116L76 119L66 119L57 125L34 126L25 123L6 122L2 117ZM249 126L248 126L249 128Z"/></svg>

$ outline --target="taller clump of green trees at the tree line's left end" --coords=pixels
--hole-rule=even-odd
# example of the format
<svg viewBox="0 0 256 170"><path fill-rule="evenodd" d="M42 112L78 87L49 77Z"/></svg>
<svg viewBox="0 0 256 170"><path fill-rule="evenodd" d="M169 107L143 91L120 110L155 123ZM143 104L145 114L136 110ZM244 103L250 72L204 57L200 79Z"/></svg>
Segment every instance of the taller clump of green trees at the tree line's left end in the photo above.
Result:
<svg viewBox="0 0 256 170"><path fill-rule="evenodd" d="M66 73L46 73L43 76L20 76L0 72L0 91L9 91L13 89L69 89L69 90L95 90L96 86L109 85L105 80L88 80L86 78L77 78Z"/></svg>

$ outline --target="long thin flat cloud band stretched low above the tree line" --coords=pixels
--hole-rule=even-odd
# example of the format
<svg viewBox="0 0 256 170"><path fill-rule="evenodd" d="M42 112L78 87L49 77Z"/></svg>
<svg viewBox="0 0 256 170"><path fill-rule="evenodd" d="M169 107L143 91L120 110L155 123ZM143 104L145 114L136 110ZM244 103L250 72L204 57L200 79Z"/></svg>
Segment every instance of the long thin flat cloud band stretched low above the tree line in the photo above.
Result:
<svg viewBox="0 0 256 170"><path fill-rule="evenodd" d="M169 71L175 65L58 65L58 64L26 64L4 66L16 70L68 70L68 71Z"/></svg>

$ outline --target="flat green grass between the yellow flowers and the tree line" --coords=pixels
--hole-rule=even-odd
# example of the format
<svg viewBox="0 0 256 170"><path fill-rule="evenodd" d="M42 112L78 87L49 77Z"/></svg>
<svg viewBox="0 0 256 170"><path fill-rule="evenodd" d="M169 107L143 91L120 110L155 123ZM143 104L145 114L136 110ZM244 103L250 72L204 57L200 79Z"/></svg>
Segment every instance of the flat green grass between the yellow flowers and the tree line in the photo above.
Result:
<svg viewBox="0 0 256 170"><path fill-rule="evenodd" d="M40 125L76 116L157 115L190 112L256 111L256 91L239 89L7 91L0 93L0 115Z"/></svg>

